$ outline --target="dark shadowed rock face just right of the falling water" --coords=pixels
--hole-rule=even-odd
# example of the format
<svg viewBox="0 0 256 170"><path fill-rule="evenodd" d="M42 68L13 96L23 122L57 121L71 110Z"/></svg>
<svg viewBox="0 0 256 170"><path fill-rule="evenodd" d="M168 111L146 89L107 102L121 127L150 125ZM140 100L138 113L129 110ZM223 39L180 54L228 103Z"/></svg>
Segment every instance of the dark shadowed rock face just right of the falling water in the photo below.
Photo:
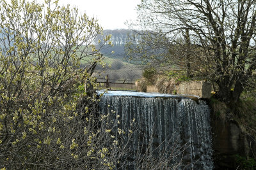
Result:
<svg viewBox="0 0 256 170"><path fill-rule="evenodd" d="M235 155L248 157L250 147L246 134L234 120L212 121L212 149L215 169L237 169Z"/></svg>

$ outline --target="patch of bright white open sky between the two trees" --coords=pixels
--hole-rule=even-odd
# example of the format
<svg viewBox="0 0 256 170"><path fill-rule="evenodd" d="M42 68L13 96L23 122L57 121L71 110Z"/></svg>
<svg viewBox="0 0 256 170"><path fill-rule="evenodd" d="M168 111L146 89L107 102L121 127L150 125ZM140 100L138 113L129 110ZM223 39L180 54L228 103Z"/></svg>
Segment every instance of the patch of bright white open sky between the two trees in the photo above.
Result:
<svg viewBox="0 0 256 170"><path fill-rule="evenodd" d="M44 0L41 0L44 2ZM60 0L59 4L77 6L81 12L96 17L103 29L127 29L126 20L136 20L136 6L141 0Z"/></svg>

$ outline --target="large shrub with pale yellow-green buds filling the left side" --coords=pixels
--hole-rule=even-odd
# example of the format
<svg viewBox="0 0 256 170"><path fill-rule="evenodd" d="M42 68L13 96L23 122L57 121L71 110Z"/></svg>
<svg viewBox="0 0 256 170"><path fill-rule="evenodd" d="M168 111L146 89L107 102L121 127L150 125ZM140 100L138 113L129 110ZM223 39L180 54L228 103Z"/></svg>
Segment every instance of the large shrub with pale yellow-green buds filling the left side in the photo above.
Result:
<svg viewBox="0 0 256 170"><path fill-rule="evenodd" d="M86 81L97 88L91 75L110 36L96 50L97 20L58 1L0 7L0 167L110 167L99 155L109 152L99 138L111 138L95 131L97 96L83 90Z"/></svg>

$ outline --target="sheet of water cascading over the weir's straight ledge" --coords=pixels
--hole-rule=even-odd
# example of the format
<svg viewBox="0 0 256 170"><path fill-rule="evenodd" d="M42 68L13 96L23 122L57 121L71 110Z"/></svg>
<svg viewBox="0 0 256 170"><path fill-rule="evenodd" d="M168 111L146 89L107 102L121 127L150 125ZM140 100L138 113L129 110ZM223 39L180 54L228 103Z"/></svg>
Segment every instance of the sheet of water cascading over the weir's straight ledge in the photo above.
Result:
<svg viewBox="0 0 256 170"><path fill-rule="evenodd" d="M131 138L126 139L130 140L129 154L124 158L131 162L128 169L143 169L147 165L159 169L213 168L210 113L205 101L119 91L100 98L100 112L111 110L120 115L118 128L127 133L129 129L133 131Z"/></svg>

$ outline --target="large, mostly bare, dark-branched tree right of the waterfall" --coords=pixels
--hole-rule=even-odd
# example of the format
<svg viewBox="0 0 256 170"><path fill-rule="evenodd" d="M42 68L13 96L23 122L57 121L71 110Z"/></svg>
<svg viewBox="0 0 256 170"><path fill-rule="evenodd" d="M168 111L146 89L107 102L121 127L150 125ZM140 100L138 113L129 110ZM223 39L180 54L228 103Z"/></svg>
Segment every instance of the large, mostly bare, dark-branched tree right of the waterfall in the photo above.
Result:
<svg viewBox="0 0 256 170"><path fill-rule="evenodd" d="M255 7L253 0L143 0L138 21L168 39L176 54L169 57L182 55L193 74L214 82L219 99L236 103L256 69Z"/></svg>

